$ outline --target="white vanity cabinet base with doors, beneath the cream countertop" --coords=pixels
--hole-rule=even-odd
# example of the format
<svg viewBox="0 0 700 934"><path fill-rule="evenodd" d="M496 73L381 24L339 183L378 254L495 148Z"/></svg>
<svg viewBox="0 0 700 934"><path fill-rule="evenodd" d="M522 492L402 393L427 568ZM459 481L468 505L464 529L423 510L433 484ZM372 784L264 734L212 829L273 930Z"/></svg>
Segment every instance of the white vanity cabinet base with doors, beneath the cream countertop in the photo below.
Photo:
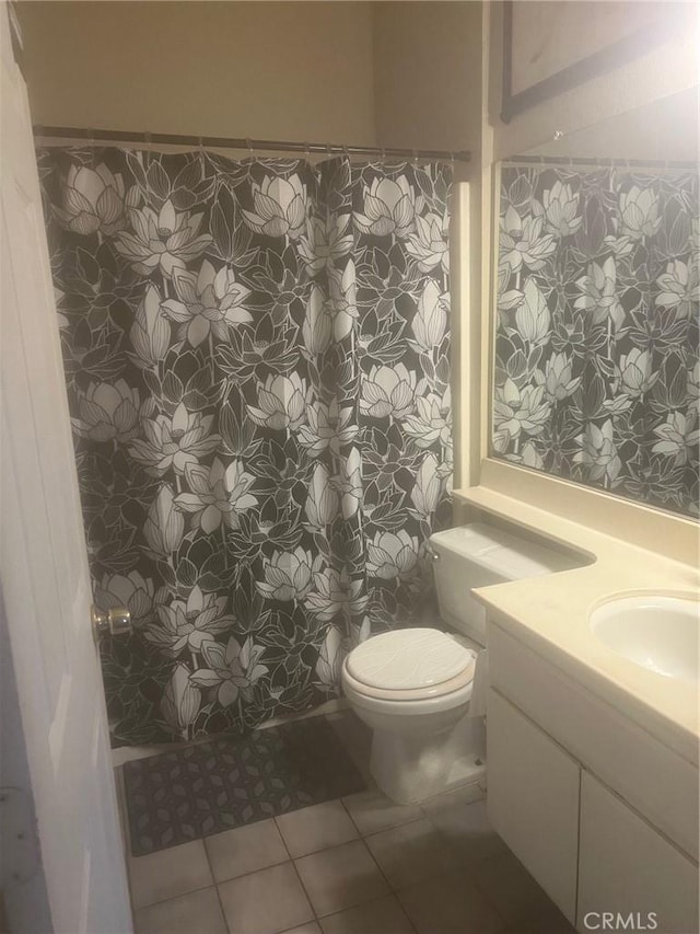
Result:
<svg viewBox="0 0 700 934"><path fill-rule="evenodd" d="M604 930L698 932L697 766L645 748L648 735L637 749L618 712L593 694L587 706L583 689L493 623L489 655L487 807L498 833L580 932L603 912L614 919Z"/></svg>

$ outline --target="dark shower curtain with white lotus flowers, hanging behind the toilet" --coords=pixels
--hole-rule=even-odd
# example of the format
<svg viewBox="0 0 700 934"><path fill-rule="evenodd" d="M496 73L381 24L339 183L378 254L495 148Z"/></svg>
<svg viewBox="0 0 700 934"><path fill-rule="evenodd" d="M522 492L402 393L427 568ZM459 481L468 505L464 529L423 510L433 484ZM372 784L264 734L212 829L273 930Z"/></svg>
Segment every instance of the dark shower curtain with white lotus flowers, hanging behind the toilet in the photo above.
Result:
<svg viewBox="0 0 700 934"><path fill-rule="evenodd" d="M114 741L337 692L448 518L448 169L39 154Z"/></svg>

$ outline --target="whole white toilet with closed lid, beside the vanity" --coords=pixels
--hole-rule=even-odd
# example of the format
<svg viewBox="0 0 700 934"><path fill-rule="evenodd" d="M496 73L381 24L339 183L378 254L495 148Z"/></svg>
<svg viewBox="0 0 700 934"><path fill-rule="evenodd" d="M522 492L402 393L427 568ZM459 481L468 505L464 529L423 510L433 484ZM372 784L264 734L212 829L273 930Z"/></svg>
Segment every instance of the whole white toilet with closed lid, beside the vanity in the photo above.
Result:
<svg viewBox="0 0 700 934"><path fill-rule="evenodd" d="M485 772L486 613L471 588L575 564L483 524L438 532L430 549L442 624L453 632L382 633L349 653L342 666L346 696L374 731L370 771L399 804L475 782Z"/></svg>

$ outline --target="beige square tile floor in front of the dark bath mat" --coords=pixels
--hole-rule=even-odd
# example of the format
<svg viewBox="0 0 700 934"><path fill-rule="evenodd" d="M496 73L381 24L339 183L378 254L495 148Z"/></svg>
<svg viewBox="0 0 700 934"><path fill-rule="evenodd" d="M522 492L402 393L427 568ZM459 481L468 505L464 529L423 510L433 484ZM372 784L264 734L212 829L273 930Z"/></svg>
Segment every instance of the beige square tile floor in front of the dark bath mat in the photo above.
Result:
<svg viewBox="0 0 700 934"><path fill-rule="evenodd" d="M365 771L366 736L334 718ZM479 785L421 807L370 787L128 866L137 934L573 932L489 827Z"/></svg>

